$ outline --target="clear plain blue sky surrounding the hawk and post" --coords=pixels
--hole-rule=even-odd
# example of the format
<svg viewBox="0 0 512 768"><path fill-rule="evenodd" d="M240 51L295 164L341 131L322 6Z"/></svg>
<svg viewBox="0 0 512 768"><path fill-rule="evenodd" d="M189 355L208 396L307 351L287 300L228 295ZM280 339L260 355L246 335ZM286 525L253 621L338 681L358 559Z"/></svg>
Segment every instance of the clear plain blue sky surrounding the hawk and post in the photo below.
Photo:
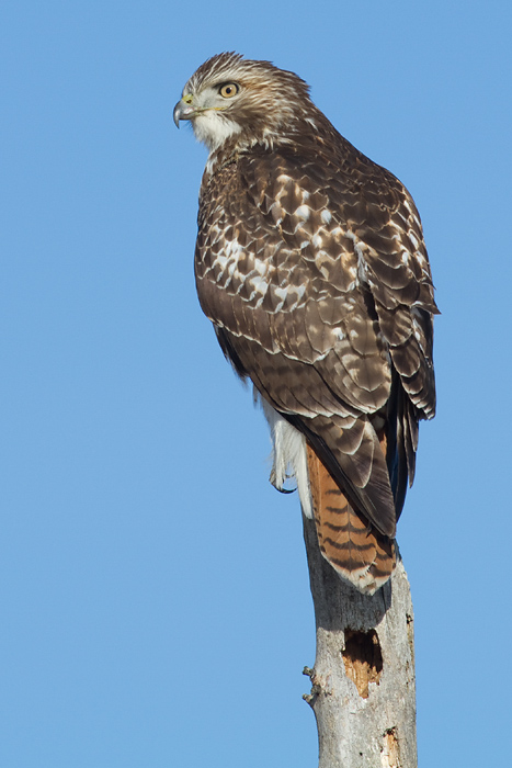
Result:
<svg viewBox="0 0 512 768"><path fill-rule="evenodd" d="M511 22L459 0L2 3L2 767L316 765L298 500L201 314L205 150L172 123L226 49L298 72L420 208L443 312L398 532L420 763L510 759Z"/></svg>

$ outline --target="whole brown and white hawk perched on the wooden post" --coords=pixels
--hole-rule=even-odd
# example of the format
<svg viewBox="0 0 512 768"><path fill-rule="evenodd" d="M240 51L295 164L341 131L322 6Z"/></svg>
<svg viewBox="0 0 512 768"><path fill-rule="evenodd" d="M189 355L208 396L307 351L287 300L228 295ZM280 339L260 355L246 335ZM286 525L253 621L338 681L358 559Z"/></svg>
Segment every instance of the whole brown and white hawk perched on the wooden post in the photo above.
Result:
<svg viewBox="0 0 512 768"><path fill-rule="evenodd" d="M174 109L209 157L195 275L226 358L261 398L271 481L295 475L325 557L373 594L396 563L418 422L434 415L437 309L406 188L269 61L225 53Z"/></svg>

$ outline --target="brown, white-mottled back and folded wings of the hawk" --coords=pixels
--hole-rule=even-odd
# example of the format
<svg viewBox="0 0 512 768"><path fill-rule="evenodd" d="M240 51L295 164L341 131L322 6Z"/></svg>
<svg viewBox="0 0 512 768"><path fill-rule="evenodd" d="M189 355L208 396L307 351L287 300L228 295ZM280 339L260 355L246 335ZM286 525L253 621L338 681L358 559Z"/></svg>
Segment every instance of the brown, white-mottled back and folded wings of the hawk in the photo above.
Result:
<svg viewBox="0 0 512 768"><path fill-rule="evenodd" d="M392 537L435 407L436 307L409 193L330 128L206 172L198 225L200 301L226 355Z"/></svg>

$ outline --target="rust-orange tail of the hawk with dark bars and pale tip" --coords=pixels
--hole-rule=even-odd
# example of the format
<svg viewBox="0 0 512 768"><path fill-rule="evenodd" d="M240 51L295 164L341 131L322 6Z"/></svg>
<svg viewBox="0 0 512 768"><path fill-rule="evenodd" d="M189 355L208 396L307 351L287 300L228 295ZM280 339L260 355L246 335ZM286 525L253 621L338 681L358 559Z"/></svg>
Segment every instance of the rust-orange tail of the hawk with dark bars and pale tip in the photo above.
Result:
<svg viewBox="0 0 512 768"><path fill-rule="evenodd" d="M343 578L373 595L392 574L395 541L354 510L309 445L307 456L320 551Z"/></svg>

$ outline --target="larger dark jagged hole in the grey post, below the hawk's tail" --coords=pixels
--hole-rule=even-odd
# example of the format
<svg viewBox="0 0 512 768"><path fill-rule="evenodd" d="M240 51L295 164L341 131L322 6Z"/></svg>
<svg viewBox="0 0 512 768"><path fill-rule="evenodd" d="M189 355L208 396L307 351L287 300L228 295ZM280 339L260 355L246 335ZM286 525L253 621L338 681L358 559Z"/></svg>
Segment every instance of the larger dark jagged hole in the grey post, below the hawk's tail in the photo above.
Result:
<svg viewBox="0 0 512 768"><path fill-rule="evenodd" d="M355 682L361 698L367 699L369 684L378 685L383 674L383 654L375 630L345 630L345 648L342 655L346 676Z"/></svg>

